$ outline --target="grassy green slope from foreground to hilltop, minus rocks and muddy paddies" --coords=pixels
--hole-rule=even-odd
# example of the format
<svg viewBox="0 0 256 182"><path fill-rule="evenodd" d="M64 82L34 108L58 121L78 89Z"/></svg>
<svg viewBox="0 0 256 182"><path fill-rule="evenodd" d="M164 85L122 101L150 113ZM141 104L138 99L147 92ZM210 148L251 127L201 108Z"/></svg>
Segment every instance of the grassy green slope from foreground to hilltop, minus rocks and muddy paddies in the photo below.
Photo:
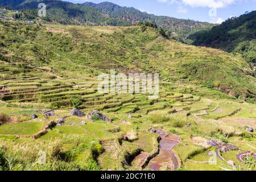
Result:
<svg viewBox="0 0 256 182"><path fill-rule="evenodd" d="M250 84L254 81L253 77L240 73L245 79L242 83L234 76L236 71L228 67L229 63L235 70L244 68L250 72L240 57L216 49L166 40L151 28L142 32L140 27L47 25L46 28L31 24L1 23L0 86L3 88L3 101L0 102L0 108L2 113L21 122L0 126L1 160L5 162L7 154L8 158L17 159L13 160L11 166L1 164L2 169L130 169L124 158L130 160L130 156L137 154L138 150L148 154L157 151L156 135L149 131L155 127L180 135L181 144L175 147L174 152L179 156L183 169L221 169L221 166L197 165L186 160L201 161L207 158L206 151L193 143L191 137L228 140L242 150L253 150L248 144L254 145L255 133L246 133L245 126L255 123L255 104L241 104L236 100L209 100L189 94L233 98L206 87L209 86L207 82L216 81L219 75L224 74L227 76L220 81L220 85L228 85L232 81L232 84L238 85L232 90L241 95L247 93L245 87L255 91L254 85ZM195 70L189 64L196 60L200 63L197 72L184 69ZM210 69L207 69L207 65ZM95 91L95 76L108 72L110 68L120 72L127 72L128 69L159 71L159 100L150 103L143 94L98 94ZM205 69L209 70L207 75L203 72ZM205 80L199 79L201 77ZM71 116L73 97L82 101L80 107L85 113L98 109L114 122L91 123L85 118ZM56 115L44 118L43 111L49 107L56 109ZM136 111L136 108L139 110ZM238 113L232 114L240 108ZM178 112L168 115L174 109ZM209 114L196 117L194 114L200 113L200 110L207 110ZM128 118L127 113L130 111L135 111L135 116L142 115L142 118ZM39 118L30 119L32 113L38 114ZM231 117L228 116L230 114ZM64 126L54 127L38 139L16 139L14 136L34 134L42 129L47 120L57 121L63 116L69 117ZM224 118L219 121L218 117ZM246 123L234 125L232 121L230 123L230 118L246 119ZM126 119L128 123L122 123L121 119ZM86 121L87 125L80 125L81 121ZM192 122L192 127L185 127L188 122ZM230 135L232 137L226 139L224 135L230 132L230 127L234 127L235 131ZM122 136L129 132L137 135L138 140L122 141ZM145 146L148 140L152 142ZM31 147L35 150L31 151ZM46 164L39 165L36 161L41 150L46 150L48 157ZM225 154L226 159L232 159L244 167L234 156L236 151Z"/></svg>

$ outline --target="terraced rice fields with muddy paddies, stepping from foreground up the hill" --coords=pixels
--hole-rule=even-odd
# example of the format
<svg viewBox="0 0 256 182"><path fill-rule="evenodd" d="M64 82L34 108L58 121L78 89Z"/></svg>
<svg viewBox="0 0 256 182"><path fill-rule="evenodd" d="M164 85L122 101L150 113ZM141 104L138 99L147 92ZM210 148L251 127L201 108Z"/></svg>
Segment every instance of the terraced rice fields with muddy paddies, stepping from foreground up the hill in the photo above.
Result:
<svg viewBox="0 0 256 182"><path fill-rule="evenodd" d="M59 58L44 64L37 57L28 59L24 55L30 60L24 61L5 54L8 60L0 61L0 159L6 160L2 156L8 154L8 159L16 160L9 160L11 165L0 164L0 169L255 170L255 104L207 88L177 69L176 57L187 59L184 49L193 49L193 59L199 57L195 49L213 57L224 54L222 51L182 47L152 30L145 33L145 39L153 42L133 42L130 37L135 34L131 32L138 27L94 27L91 31L90 27L48 26L64 30L51 31L53 38L65 41L72 34L90 49L85 54L75 50L70 55L56 51L53 57L67 61L65 69ZM43 27L38 31L46 30ZM117 33L122 31L127 31L125 38ZM109 37L102 38L106 34ZM118 42L117 38L126 40ZM166 47L158 41L165 42ZM100 49L98 42L105 46L110 42L115 50ZM16 46L30 47L26 43ZM14 51L11 46L4 49ZM105 61L98 60L101 53ZM69 59L72 56L76 56L73 62ZM86 59L78 64L79 56ZM228 54L221 56L235 59ZM72 67L73 63L77 65ZM148 100L148 95L141 93L98 93L97 73L109 73L113 68L122 73L160 72L159 98ZM235 89L242 92L239 85ZM85 114L98 110L112 122L72 115L73 107ZM48 110L54 110L54 115L46 117ZM32 119L32 114L37 118ZM248 159L246 151L250 151L246 153L250 154ZM41 154L46 156L43 163Z"/></svg>

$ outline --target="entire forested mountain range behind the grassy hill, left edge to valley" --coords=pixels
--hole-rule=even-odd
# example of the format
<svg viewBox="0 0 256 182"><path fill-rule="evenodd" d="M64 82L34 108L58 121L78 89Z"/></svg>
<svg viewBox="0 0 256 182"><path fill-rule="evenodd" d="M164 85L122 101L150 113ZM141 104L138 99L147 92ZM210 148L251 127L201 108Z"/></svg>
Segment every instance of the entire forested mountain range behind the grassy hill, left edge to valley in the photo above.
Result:
<svg viewBox="0 0 256 182"><path fill-rule="evenodd" d="M149 21L164 28L166 34L177 39L185 40L189 35L199 30L209 30L213 25L207 22L197 22L170 18L168 16L155 16L143 13L133 7L121 7L110 2L99 4L86 2L73 4L63 1L40 1L40 0L0 0L0 6L10 6L15 10L38 9L38 3L47 5L47 19L62 24L87 24L87 25L110 25L130 26L139 22ZM37 12L30 12L30 17L36 17Z"/></svg>

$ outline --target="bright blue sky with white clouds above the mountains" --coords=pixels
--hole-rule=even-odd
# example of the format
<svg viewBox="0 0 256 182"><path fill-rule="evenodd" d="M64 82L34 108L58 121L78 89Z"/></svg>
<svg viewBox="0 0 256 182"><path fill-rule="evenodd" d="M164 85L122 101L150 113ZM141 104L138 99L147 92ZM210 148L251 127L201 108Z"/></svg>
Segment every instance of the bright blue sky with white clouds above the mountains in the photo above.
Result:
<svg viewBox="0 0 256 182"><path fill-rule="evenodd" d="M83 3L86 0L65 0ZM120 6L135 7L155 15L221 23L245 11L256 10L256 0L105 0ZM104 0L90 0L100 3Z"/></svg>

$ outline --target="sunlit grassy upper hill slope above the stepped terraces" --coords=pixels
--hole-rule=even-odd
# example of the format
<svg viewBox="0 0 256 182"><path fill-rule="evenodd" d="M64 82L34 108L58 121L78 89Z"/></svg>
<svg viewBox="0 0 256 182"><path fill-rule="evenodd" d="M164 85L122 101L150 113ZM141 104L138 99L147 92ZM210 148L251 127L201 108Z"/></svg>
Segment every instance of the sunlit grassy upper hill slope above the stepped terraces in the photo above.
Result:
<svg viewBox="0 0 256 182"><path fill-rule="evenodd" d="M3 59L7 51L7 59L15 60L10 56L14 54L32 65L72 77L95 76L99 69L93 68L103 63L130 69L139 65L138 69L160 71L167 77L172 73L174 81L188 78L190 85L255 97L255 78L250 76L253 71L241 57L166 40L151 28L142 32L140 27L53 26L65 31L55 34L44 26L19 24L16 31L18 24L4 24L1 26Z"/></svg>

